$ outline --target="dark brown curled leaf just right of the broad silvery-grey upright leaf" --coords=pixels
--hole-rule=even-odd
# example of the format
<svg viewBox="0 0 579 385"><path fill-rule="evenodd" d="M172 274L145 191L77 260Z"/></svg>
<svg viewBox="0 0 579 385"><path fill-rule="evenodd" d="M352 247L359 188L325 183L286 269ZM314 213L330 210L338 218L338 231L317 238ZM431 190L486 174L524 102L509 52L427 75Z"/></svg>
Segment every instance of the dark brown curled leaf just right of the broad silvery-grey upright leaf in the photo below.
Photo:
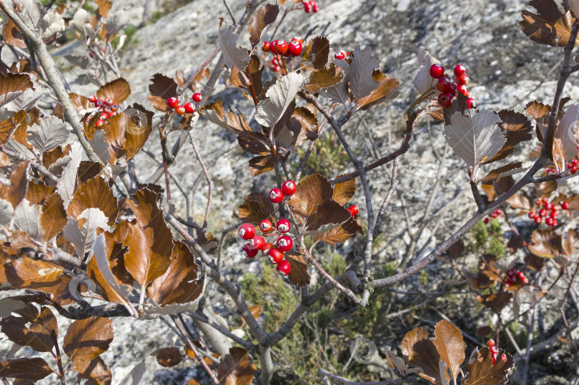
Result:
<svg viewBox="0 0 579 385"><path fill-rule="evenodd" d="M484 161L483 164L489 164L493 163L494 161L505 159L510 154L513 154L517 144L533 139L533 135L531 135L533 126L525 117L525 115L505 109L500 111L498 114L500 120L503 121L501 124L499 124L499 126L500 129L506 130L505 138L507 138L507 142L503 148L500 149L495 156L493 156L493 158Z"/></svg>

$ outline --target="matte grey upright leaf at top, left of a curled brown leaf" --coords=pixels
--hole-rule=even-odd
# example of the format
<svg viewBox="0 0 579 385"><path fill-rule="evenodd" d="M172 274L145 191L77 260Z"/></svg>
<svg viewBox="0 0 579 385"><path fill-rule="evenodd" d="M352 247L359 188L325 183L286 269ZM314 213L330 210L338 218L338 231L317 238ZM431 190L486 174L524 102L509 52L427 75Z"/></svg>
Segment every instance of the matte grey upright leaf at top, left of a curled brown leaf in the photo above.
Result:
<svg viewBox="0 0 579 385"><path fill-rule="evenodd" d="M372 77L375 69L380 67L380 61L372 56L372 49L368 46L363 51L360 45L354 46L354 57L350 64L352 76L350 76L350 90L357 100L372 94L372 91L380 86Z"/></svg>

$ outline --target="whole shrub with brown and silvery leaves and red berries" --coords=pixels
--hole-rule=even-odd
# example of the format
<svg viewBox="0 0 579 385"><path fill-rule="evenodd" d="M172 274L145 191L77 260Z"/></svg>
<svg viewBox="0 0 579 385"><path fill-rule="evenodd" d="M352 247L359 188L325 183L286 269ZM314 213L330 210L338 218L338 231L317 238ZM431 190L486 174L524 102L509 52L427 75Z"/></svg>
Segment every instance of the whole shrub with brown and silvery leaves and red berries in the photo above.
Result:
<svg viewBox="0 0 579 385"><path fill-rule="evenodd" d="M319 5L264 3L248 1L237 21L231 15L232 24L221 19L218 46L193 74L155 74L147 100L128 105L131 89L117 66L127 20L123 11L111 12L112 1L81 8L78 2L0 0L1 46L15 56L13 63L0 61L0 161L6 174L0 180L0 284L9 294L0 300L0 329L16 347L52 357L3 354L4 384L55 376L61 384L74 376L85 384L111 384L114 368L101 355L115 337L114 317L166 323L182 344L155 351L159 365L189 361L207 375L187 384L370 384L385 374L392 382L375 383L505 384L515 364L518 381L526 384L534 352L557 343L576 356L579 237L573 219L579 196L560 189L558 181L572 178L579 164L579 104L564 92L579 70L572 63L578 2L533 0L537 13L525 10L520 21L536 43L563 47L553 104L530 101L526 114L484 109L470 95L464 66L445 71L450 63L420 47L413 84L418 96L407 109L400 146L372 160L361 159L342 127L412 85L383 73L369 47L355 44L352 51L331 54L325 36L274 40L287 12L317 12ZM246 28L250 38L242 41ZM65 59L86 69L78 83L97 85L94 95L74 93L62 80L49 48L66 36L84 46L86 55ZM247 99L253 114L212 98L224 71L227 86ZM202 135L195 129L198 119L236 136L252 155L249 174L272 183L247 191L238 220L219 239L208 231L221 213L212 206L209 164L195 141ZM385 221L399 174L405 177L400 158L423 119L442 124L447 145L464 161L457 172L465 173L477 211L424 258L415 259L422 225L417 237L410 234L401 261L379 263L376 239L386 228L399 230ZM169 143L173 131L179 136ZM144 150L147 141L159 141L160 154ZM513 154L530 141L537 144L528 154L533 164L523 168ZM186 142L208 185L202 223L193 221L189 206L172 204L172 193L183 188L171 168ZM161 184L137 178L134 156L141 151L158 159ZM390 189L376 196L368 179L386 165ZM365 206L349 203L356 194ZM240 254L263 259L257 274L224 274L222 248L231 231L240 237ZM467 254L477 257L474 264ZM428 299L394 311L393 286L415 274L418 291L402 293ZM437 275L448 281L439 293L428 292L425 285ZM561 287L560 308L551 311L564 326L535 339L537 305ZM232 317L234 327L214 313L218 289L239 315ZM455 314L461 330L436 307L437 321L413 327L417 314L434 306L431 297L453 301L465 292L475 299L474 312L462 316L478 321L477 329L465 330L467 321ZM73 321L59 327L55 313ZM481 324L489 315L492 321ZM385 325L393 319L402 320L388 332L399 346L384 344L378 351L375 344L385 341ZM370 364L382 371L375 374ZM143 371L144 364L135 366L122 383L136 384Z"/></svg>

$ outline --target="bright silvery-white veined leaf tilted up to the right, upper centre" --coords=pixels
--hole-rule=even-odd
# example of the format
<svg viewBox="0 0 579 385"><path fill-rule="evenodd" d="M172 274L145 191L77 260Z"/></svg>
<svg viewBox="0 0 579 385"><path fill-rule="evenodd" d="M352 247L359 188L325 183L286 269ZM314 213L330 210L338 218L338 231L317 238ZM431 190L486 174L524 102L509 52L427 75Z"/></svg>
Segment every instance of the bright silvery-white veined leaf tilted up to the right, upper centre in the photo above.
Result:
<svg viewBox="0 0 579 385"><path fill-rule="evenodd" d="M267 90L266 99L257 104L255 120L262 126L273 127L292 104L303 83L304 76L295 72L277 79Z"/></svg>

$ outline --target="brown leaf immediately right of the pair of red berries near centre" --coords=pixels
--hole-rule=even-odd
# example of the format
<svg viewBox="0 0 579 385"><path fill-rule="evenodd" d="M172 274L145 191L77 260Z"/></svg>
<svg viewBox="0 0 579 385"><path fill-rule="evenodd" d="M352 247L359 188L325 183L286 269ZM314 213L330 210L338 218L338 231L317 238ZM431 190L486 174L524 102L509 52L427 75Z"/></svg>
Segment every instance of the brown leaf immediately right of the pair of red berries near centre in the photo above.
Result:
<svg viewBox="0 0 579 385"><path fill-rule="evenodd" d="M312 174L297 184L295 194L289 199L289 206L294 210L297 221L305 224L307 218L325 201L332 199L332 185L322 174Z"/></svg>

